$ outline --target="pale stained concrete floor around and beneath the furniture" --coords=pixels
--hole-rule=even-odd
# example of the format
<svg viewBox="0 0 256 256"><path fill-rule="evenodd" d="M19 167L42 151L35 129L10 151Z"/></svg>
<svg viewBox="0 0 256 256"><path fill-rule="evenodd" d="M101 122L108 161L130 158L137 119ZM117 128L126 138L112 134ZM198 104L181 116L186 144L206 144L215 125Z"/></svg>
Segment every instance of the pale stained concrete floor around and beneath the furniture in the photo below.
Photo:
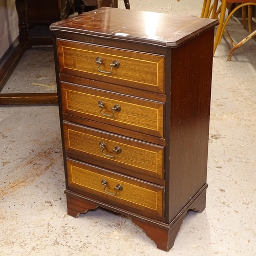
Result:
<svg viewBox="0 0 256 256"><path fill-rule="evenodd" d="M137 10L199 16L202 1L130 3ZM228 31L238 41L247 35L236 19ZM256 255L256 41L230 62L229 49L224 37L214 57L206 209L188 212L168 253L129 218L104 209L67 215L58 108L42 105L0 108L0 254ZM28 51L3 93L55 91L51 52ZM40 69L29 64L35 59Z"/></svg>

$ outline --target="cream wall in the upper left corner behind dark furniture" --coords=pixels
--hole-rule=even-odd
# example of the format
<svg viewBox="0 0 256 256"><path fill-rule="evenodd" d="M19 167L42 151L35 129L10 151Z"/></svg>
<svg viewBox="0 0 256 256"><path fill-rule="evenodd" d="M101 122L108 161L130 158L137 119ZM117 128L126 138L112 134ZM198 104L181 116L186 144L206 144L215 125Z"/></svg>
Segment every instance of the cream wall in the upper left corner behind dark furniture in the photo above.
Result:
<svg viewBox="0 0 256 256"><path fill-rule="evenodd" d="M18 36L15 0L0 0L0 58Z"/></svg>

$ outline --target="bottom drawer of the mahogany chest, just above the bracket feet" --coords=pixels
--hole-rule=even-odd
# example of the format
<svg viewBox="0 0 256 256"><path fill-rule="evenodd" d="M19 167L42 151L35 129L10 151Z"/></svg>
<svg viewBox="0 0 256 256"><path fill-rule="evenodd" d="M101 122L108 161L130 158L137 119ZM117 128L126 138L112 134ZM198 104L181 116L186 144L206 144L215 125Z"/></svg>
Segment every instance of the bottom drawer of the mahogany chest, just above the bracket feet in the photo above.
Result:
<svg viewBox="0 0 256 256"><path fill-rule="evenodd" d="M70 159L67 174L70 190L142 215L163 217L162 186Z"/></svg>

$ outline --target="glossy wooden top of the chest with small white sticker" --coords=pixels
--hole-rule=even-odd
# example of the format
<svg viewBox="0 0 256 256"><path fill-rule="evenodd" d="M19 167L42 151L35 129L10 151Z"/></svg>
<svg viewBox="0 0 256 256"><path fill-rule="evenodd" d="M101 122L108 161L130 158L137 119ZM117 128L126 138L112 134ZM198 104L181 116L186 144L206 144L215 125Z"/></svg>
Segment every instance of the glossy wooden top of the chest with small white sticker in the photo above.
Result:
<svg viewBox="0 0 256 256"><path fill-rule="evenodd" d="M215 19L102 7L54 23L50 28L53 31L177 47L216 25L218 21Z"/></svg>

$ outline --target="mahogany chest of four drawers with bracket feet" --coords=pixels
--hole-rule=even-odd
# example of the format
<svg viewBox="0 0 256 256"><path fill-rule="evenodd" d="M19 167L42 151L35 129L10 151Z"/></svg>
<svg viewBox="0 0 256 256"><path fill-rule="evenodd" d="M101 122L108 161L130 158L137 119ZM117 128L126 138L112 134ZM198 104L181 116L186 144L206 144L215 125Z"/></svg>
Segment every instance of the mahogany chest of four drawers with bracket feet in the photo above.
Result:
<svg viewBox="0 0 256 256"><path fill-rule="evenodd" d="M204 210L217 24L104 7L51 25L69 215L130 216L168 251Z"/></svg>

